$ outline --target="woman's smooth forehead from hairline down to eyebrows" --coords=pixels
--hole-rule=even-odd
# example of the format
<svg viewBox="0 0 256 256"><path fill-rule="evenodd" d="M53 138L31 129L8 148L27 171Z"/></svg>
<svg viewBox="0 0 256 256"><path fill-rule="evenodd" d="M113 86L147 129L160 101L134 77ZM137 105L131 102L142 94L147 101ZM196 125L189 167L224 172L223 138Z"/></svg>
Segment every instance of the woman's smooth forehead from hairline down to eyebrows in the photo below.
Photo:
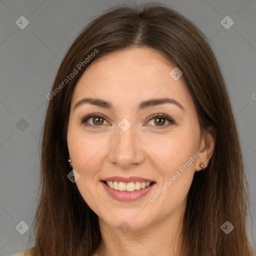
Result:
<svg viewBox="0 0 256 256"><path fill-rule="evenodd" d="M120 103L140 102L153 97L172 97L192 103L182 76L174 80L175 66L150 48L134 48L106 54L92 62L79 77L71 106L84 96Z"/></svg>

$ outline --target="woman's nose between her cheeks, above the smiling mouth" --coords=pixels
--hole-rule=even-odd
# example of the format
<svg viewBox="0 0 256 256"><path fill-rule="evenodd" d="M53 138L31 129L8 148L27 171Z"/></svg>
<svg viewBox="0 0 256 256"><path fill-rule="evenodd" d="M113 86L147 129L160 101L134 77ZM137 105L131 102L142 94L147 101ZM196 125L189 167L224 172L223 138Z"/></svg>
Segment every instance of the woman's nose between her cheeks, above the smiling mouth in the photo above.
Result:
<svg viewBox="0 0 256 256"><path fill-rule="evenodd" d="M122 169L129 169L143 162L144 144L134 133L133 125L126 131L117 126L116 134L110 143L109 159L112 164Z"/></svg>

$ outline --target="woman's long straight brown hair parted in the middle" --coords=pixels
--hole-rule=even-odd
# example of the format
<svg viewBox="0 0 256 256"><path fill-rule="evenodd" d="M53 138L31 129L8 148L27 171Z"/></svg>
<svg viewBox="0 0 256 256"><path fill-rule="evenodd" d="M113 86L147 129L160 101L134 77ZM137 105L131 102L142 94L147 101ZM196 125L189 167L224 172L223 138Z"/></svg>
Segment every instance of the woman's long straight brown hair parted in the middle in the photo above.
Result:
<svg viewBox="0 0 256 256"><path fill-rule="evenodd" d="M216 134L208 166L194 174L188 192L182 253L252 255L245 228L248 191L242 153L219 65L207 38L191 21L152 2L113 7L97 16L78 34L58 68L47 96L31 254L91 256L101 242L97 215L67 178L70 100L79 76L95 59L134 47L154 49L182 71L201 130L212 126ZM229 234L220 228L225 221L234 226Z"/></svg>

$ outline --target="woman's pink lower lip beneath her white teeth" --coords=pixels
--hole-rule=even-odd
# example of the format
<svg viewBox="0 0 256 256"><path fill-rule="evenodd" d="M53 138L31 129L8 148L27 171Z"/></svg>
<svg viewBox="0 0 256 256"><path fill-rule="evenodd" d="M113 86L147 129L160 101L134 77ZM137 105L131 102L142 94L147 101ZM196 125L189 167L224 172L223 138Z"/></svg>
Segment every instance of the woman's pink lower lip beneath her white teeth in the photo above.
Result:
<svg viewBox="0 0 256 256"><path fill-rule="evenodd" d="M106 185L103 181L101 181L101 183L103 184L103 187L106 189L106 192L118 201L135 201L145 196L146 194L148 194L152 189L152 187L155 185L155 183L153 183L148 187L145 187L139 190L134 190L132 192L128 192L128 191L115 190L109 187L108 185Z"/></svg>

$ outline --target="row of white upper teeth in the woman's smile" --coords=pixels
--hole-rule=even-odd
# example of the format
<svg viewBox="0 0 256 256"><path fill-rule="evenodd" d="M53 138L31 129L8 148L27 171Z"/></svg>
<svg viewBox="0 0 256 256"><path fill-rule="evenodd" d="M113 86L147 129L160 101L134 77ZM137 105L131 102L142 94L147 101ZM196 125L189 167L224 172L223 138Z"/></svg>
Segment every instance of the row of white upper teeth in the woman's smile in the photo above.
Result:
<svg viewBox="0 0 256 256"><path fill-rule="evenodd" d="M119 190L119 191L129 191L132 192L134 190L139 190L139 189L143 189L145 187L148 187L151 182L129 182L129 183L125 183L125 182L117 182L117 181L106 181L107 185L110 188L113 188L114 190Z"/></svg>

